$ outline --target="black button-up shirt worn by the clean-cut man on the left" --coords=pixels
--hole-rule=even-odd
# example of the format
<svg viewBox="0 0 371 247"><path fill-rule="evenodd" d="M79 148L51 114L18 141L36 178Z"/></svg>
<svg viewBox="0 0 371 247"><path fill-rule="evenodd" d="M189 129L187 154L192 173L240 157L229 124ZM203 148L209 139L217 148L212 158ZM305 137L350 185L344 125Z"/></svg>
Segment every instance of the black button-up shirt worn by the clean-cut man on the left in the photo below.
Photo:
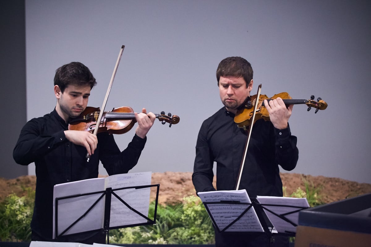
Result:
<svg viewBox="0 0 371 247"><path fill-rule="evenodd" d="M99 160L109 175L127 173L133 168L144 148L146 138L134 136L120 151L113 135L97 134L98 145L89 162L86 148L66 139L68 124L56 110L24 125L13 150L14 160L21 165L35 162L36 195L31 228L46 239L52 239L53 187L56 184L98 177Z"/></svg>

